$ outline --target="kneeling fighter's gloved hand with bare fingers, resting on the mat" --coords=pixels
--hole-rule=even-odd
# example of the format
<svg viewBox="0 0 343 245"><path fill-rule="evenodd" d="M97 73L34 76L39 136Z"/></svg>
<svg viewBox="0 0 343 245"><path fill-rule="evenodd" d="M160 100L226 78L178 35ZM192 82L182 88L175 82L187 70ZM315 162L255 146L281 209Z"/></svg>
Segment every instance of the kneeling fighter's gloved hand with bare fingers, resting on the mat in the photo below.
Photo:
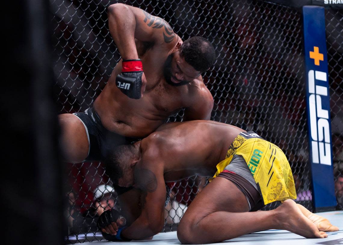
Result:
<svg viewBox="0 0 343 245"><path fill-rule="evenodd" d="M117 235L118 229L126 224L126 219L115 209L103 212L97 222L97 227L104 233Z"/></svg>

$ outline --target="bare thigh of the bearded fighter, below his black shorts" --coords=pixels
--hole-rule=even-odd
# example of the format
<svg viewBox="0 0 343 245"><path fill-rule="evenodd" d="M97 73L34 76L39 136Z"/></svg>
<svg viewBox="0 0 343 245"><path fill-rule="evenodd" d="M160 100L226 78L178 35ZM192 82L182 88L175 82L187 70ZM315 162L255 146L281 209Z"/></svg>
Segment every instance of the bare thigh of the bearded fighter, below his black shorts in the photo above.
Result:
<svg viewBox="0 0 343 245"><path fill-rule="evenodd" d="M69 163L80 163L88 155L89 143L86 129L81 120L73 114L58 115L61 126L61 148L63 159Z"/></svg>

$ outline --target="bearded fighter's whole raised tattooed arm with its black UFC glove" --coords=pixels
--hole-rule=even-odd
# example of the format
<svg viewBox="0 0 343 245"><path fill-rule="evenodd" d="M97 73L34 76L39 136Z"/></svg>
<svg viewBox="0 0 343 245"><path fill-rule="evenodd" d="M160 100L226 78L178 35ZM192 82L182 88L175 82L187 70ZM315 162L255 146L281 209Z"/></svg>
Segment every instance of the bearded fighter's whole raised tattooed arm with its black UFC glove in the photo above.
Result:
<svg viewBox="0 0 343 245"><path fill-rule="evenodd" d="M108 7L108 27L123 58L122 72L116 77L117 87L129 98L140 99L146 78L134 39L171 50L178 41L177 35L163 19L122 3Z"/></svg>

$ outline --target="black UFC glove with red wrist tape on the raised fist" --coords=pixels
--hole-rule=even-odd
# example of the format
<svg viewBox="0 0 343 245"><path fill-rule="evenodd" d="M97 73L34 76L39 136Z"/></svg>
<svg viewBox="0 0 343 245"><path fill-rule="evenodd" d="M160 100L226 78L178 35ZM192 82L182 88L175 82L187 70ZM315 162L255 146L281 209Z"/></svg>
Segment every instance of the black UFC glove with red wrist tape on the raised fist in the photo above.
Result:
<svg viewBox="0 0 343 245"><path fill-rule="evenodd" d="M129 98L139 99L141 98L142 75L142 60L123 60L121 73L116 78L117 87Z"/></svg>

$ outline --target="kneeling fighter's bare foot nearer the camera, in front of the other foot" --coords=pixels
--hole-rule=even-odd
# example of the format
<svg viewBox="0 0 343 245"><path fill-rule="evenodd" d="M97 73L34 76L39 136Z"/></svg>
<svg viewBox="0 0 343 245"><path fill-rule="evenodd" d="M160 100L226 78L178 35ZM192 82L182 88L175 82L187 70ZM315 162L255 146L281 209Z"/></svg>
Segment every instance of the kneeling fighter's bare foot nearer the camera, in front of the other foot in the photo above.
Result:
<svg viewBox="0 0 343 245"><path fill-rule="evenodd" d="M280 207L275 209L275 212L280 227L283 230L293 232L306 238L328 237L325 232L319 231L317 226L306 218L297 204L291 199L284 201Z"/></svg>

